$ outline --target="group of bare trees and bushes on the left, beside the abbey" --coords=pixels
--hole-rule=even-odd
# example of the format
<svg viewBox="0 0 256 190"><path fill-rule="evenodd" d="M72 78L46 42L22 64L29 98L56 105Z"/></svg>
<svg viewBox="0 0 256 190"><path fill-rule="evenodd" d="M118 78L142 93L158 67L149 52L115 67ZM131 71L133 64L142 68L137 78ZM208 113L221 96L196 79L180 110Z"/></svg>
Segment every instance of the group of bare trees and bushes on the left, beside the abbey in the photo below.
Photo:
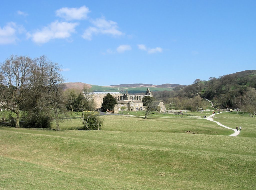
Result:
<svg viewBox="0 0 256 190"><path fill-rule="evenodd" d="M10 55L0 66L1 108L16 114L16 128L22 118L25 127L36 128L50 128L55 120L56 130L60 130L58 116L65 114L68 106L72 111L93 109L93 101L87 96L76 90L64 92L64 81L60 65L45 55L34 59ZM83 114L84 130L91 130L91 118L97 120L97 115Z"/></svg>

